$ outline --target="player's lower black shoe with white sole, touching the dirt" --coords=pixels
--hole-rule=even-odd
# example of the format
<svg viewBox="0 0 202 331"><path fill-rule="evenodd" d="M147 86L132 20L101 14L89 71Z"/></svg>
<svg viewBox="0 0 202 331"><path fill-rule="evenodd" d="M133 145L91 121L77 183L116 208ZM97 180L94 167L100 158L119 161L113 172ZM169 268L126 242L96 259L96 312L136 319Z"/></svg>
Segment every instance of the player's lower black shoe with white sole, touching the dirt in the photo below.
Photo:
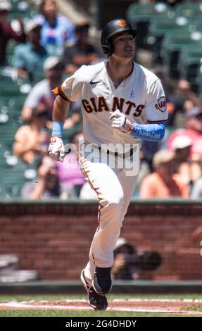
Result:
<svg viewBox="0 0 202 331"><path fill-rule="evenodd" d="M87 290L87 293L89 294L89 305L96 311L105 311L108 306L106 296L96 293L94 288L89 285L86 277L84 276L84 270L82 270L81 273L81 280L85 289Z"/></svg>

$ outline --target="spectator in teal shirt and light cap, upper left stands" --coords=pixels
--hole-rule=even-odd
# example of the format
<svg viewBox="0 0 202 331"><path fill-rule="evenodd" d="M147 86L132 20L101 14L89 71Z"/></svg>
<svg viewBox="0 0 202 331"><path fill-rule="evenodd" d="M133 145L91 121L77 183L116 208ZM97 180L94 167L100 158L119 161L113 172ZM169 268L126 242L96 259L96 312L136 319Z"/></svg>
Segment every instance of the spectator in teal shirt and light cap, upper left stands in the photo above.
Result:
<svg viewBox="0 0 202 331"><path fill-rule="evenodd" d="M44 60L48 56L44 46L40 44L41 25L30 21L25 25L27 44L15 47L12 65L18 68L18 75L34 80L34 70L43 69Z"/></svg>

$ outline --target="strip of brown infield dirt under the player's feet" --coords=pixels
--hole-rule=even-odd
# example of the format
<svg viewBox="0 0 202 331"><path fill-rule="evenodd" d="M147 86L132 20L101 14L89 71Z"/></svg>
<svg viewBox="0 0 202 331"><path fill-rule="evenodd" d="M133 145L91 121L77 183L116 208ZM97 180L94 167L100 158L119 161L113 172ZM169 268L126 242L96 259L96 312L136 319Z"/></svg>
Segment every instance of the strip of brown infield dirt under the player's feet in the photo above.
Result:
<svg viewBox="0 0 202 331"><path fill-rule="evenodd" d="M113 299L108 302L108 311L132 311L143 313L201 314L202 311L186 311L187 306L198 306L201 299ZM0 310L67 310L93 311L87 300L54 301L9 301L1 302Z"/></svg>

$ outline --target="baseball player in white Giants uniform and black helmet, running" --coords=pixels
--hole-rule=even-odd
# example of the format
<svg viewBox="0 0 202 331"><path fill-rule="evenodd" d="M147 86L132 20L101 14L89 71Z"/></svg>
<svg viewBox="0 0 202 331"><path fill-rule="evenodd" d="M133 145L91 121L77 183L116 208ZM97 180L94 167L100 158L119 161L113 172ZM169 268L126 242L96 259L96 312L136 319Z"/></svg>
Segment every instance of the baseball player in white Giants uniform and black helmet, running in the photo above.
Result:
<svg viewBox="0 0 202 331"><path fill-rule="evenodd" d="M91 243L89 263L81 280L94 309L106 309L110 292L113 247L134 193L139 172L139 141L159 141L168 119L163 87L156 75L134 63L137 31L125 19L103 27L101 46L107 61L82 65L54 89L53 132L49 154L65 155L62 130L70 102L82 100L85 145L94 157L79 151L84 176L99 199L98 227ZM118 147L117 147L118 146ZM113 166L108 163L109 156ZM124 161L122 168L118 165ZM128 173L127 161L133 171Z"/></svg>

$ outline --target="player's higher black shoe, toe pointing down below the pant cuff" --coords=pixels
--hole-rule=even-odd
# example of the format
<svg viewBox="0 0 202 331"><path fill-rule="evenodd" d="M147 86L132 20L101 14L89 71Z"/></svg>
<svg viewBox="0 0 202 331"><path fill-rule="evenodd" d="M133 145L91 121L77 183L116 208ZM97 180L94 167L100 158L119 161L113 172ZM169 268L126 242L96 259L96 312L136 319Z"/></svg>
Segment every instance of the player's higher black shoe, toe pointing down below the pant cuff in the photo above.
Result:
<svg viewBox="0 0 202 331"><path fill-rule="evenodd" d="M111 291L111 268L96 267L92 285L96 293L106 295Z"/></svg>

